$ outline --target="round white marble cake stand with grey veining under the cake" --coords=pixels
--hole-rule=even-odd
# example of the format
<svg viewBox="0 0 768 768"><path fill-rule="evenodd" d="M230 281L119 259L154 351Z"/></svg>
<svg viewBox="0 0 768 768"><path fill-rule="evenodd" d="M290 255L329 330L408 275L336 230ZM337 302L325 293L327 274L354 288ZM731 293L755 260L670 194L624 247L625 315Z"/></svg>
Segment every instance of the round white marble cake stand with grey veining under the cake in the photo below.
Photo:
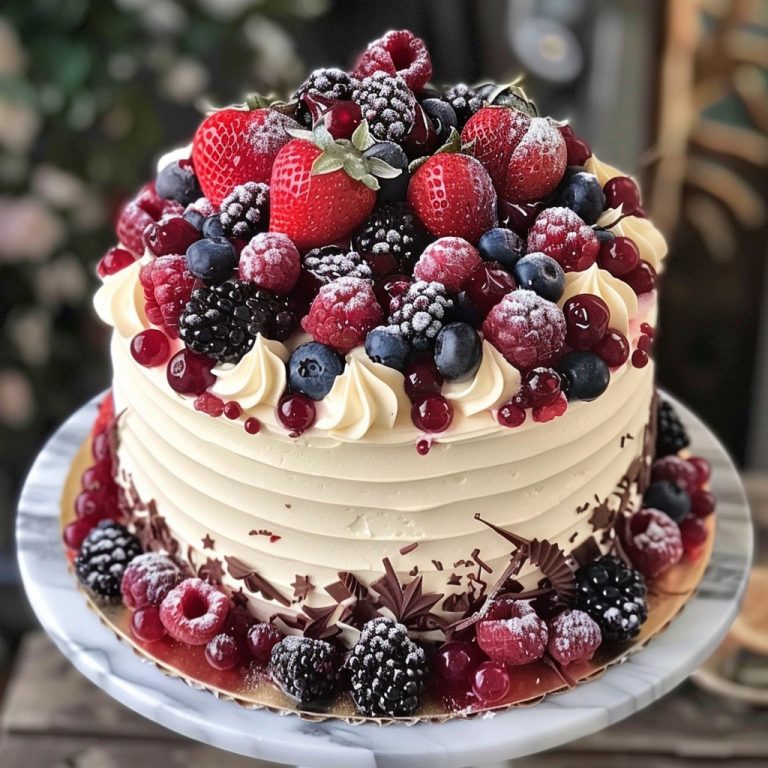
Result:
<svg viewBox="0 0 768 768"><path fill-rule="evenodd" d="M717 536L698 593L670 627L600 679L535 707L438 725L307 722L218 701L142 662L99 622L76 590L59 535L59 496L95 418L91 402L51 438L19 503L18 556L40 623L82 674L144 717L221 749L311 768L462 768L555 747L637 712L683 681L714 651L736 616L752 556L747 501L722 446L680 406L697 454L713 466ZM254 761L254 768L258 761Z"/></svg>

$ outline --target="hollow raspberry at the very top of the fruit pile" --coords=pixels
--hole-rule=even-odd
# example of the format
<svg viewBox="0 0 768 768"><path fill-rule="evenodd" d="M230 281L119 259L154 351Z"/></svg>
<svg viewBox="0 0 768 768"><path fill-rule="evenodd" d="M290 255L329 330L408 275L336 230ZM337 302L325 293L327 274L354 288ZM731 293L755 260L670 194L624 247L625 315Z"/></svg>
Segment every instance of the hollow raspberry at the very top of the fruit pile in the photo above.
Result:
<svg viewBox="0 0 768 768"><path fill-rule="evenodd" d="M432 60L421 38L407 29L392 30L369 43L352 74L363 78L380 70L400 75L412 91L419 91L432 77Z"/></svg>

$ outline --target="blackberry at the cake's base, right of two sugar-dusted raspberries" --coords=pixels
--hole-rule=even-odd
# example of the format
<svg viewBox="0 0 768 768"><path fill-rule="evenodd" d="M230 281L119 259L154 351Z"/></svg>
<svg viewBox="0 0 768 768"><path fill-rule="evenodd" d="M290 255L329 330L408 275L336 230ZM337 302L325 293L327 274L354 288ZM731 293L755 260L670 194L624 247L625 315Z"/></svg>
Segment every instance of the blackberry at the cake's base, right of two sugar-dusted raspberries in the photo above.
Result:
<svg viewBox="0 0 768 768"><path fill-rule="evenodd" d="M606 640L623 643L648 618L645 579L622 560L603 555L576 572L576 607L599 625Z"/></svg>

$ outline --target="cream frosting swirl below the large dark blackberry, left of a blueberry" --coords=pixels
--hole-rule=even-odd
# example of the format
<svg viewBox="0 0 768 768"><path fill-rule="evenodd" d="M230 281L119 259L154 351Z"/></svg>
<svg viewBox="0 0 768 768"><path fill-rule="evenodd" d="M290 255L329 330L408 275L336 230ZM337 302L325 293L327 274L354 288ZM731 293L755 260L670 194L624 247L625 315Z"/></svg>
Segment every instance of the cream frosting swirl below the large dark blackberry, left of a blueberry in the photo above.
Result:
<svg viewBox="0 0 768 768"><path fill-rule="evenodd" d="M224 399L237 400L245 408L276 406L285 391L288 350L279 341L256 337L253 348L235 365L213 369L216 382L211 391Z"/></svg>

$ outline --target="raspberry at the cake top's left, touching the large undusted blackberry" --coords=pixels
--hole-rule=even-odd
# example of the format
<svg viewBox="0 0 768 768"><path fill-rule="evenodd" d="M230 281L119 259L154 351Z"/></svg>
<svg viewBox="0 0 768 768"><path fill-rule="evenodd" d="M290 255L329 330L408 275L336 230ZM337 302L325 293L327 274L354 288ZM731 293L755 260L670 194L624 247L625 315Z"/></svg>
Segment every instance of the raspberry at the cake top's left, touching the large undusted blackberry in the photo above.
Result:
<svg viewBox="0 0 768 768"><path fill-rule="evenodd" d="M179 318L198 284L187 268L186 257L160 256L141 268L139 279L149 321L163 326L171 338L178 338Z"/></svg>

